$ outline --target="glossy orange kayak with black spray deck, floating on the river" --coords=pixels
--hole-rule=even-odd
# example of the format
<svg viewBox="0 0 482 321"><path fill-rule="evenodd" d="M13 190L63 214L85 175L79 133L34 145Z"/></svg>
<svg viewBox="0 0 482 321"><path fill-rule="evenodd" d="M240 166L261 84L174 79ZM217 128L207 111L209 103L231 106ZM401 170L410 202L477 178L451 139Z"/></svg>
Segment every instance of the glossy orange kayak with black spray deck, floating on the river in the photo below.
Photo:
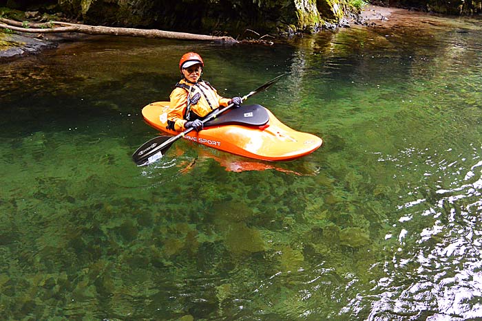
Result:
<svg viewBox="0 0 482 321"><path fill-rule="evenodd" d="M155 129L177 135L167 129L169 102L153 102L143 108L143 117ZM202 131L191 131L186 140L220 151L266 161L288 161L316 151L322 139L295 131L284 125L266 108L242 105L206 122Z"/></svg>

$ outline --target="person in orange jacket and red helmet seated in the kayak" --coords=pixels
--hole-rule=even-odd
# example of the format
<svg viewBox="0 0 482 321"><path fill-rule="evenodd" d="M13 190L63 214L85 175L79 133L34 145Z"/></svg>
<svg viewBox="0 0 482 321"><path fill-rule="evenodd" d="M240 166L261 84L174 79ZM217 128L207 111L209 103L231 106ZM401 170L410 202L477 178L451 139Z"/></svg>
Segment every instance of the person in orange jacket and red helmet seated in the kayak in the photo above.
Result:
<svg viewBox="0 0 482 321"><path fill-rule="evenodd" d="M179 70L182 78L169 96L167 129L184 131L193 127L200 131L202 118L211 111L220 106L226 107L231 102L235 107L240 107L240 97L223 98L209 82L202 80L204 65L201 56L196 52L188 52L180 58Z"/></svg>

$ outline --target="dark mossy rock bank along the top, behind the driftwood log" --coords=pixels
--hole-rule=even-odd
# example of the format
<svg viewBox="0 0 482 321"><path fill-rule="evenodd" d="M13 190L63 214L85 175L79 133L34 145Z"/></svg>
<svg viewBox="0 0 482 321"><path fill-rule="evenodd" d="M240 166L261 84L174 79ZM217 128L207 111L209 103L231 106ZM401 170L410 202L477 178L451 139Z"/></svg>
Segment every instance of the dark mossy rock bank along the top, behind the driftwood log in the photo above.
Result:
<svg viewBox="0 0 482 321"><path fill-rule="evenodd" d="M81 21L87 25L229 34L317 32L346 25L369 0L9 0L0 15L23 21ZM481 0L371 0L373 4L443 14L482 12ZM16 11L17 10L17 11Z"/></svg>

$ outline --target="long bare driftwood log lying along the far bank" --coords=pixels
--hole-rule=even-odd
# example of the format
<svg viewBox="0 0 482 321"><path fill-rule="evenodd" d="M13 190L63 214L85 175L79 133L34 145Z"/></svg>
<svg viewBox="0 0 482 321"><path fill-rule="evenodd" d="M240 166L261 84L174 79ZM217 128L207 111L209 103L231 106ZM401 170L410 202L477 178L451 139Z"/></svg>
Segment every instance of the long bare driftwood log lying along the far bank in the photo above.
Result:
<svg viewBox="0 0 482 321"><path fill-rule="evenodd" d="M81 25L77 23L65 23L51 21L48 23L22 23L0 17L0 28L18 32L30 32L36 34L76 32L81 34L96 34L109 36L134 36L144 38L171 38L194 41L216 41L222 43L238 43L229 36L208 36L206 34L189 34L186 32L171 32L157 29L136 29L126 27L104 27L100 25Z"/></svg>

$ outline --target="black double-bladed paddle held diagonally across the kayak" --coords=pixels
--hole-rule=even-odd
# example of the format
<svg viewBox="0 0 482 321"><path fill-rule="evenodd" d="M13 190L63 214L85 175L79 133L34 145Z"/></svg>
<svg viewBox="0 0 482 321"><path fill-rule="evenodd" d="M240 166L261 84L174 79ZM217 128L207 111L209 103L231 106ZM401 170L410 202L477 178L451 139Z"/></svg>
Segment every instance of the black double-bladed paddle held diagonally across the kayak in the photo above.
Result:
<svg viewBox="0 0 482 321"><path fill-rule="evenodd" d="M244 100L247 100L255 93L259 93L260 91L268 89L269 87L271 87L271 85L277 82L277 80L279 80L282 76L284 76L284 74L269 80L269 82L266 82L264 85L261 85L257 89L251 91L246 96L243 96L241 98L241 101L244 102ZM202 124L209 122L209 120L213 120L220 113L224 113L224 111L231 109L233 106L234 104L229 104L227 107L224 107L222 109L216 109L216 111L214 111L213 113L208 115L207 118L202 120ZM187 133L190 133L191 131L193 131L192 127L189 129L186 129L185 131L183 131L182 133L179 133L176 136L154 137L153 139L145 142L142 146L137 148L134 154L132 154L132 160L137 164L137 166L145 166L153 162L156 162L157 159L160 159L160 157L163 157L163 155L166 153L169 147L171 147L171 145L174 142L176 142L176 140L178 140L181 137L184 137Z"/></svg>

